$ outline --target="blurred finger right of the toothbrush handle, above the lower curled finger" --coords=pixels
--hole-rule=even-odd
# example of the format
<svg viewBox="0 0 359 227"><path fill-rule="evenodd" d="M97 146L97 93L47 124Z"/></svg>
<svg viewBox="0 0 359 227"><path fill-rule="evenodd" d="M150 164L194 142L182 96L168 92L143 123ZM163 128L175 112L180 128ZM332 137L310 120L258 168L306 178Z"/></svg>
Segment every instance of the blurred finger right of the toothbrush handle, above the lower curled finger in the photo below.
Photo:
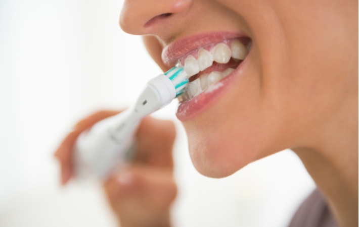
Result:
<svg viewBox="0 0 359 227"><path fill-rule="evenodd" d="M151 165L173 166L172 147L175 136L173 122L145 118L137 132L136 160Z"/></svg>

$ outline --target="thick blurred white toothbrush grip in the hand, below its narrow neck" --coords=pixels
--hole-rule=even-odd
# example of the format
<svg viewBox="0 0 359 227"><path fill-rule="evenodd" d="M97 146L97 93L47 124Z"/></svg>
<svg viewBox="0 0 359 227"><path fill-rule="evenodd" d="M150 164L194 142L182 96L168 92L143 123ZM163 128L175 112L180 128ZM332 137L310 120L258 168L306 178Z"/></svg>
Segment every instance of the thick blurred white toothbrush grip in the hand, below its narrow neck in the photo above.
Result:
<svg viewBox="0 0 359 227"><path fill-rule="evenodd" d="M127 109L82 132L74 145L76 178L105 180L113 168L128 162L134 154L140 121Z"/></svg>

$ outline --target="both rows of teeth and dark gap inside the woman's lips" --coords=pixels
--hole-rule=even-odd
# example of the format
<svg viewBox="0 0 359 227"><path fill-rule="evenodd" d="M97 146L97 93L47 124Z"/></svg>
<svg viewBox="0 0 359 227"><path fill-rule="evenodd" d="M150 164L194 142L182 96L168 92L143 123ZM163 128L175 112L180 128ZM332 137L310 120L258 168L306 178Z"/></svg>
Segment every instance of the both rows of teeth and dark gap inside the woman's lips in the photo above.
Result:
<svg viewBox="0 0 359 227"><path fill-rule="evenodd" d="M192 99L229 76L246 58L251 45L247 37L226 39L192 50L178 59L177 64L190 77L188 87L178 96L179 102Z"/></svg>

